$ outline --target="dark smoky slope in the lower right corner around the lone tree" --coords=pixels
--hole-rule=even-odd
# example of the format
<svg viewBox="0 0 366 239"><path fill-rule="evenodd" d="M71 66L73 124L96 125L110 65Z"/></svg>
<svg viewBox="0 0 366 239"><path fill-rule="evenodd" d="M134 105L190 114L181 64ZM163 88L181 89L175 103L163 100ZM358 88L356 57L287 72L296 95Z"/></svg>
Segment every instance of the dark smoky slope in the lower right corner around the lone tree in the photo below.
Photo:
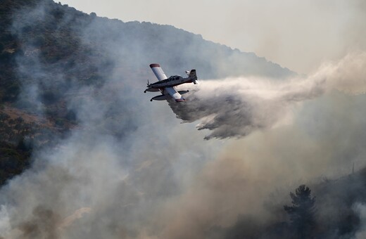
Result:
<svg viewBox="0 0 366 239"><path fill-rule="evenodd" d="M365 229L358 207L363 207L366 201L365 181L366 170L362 169L339 179L324 178L310 185L315 197L315 225L304 238L358 238L362 235L359 232ZM234 226L216 228L219 238L298 238L299 235L287 222L288 215L284 211L284 205L289 203L290 197L280 197L282 200L274 195L277 200L269 198L265 205L272 212L274 220L263 222L241 215Z"/></svg>

